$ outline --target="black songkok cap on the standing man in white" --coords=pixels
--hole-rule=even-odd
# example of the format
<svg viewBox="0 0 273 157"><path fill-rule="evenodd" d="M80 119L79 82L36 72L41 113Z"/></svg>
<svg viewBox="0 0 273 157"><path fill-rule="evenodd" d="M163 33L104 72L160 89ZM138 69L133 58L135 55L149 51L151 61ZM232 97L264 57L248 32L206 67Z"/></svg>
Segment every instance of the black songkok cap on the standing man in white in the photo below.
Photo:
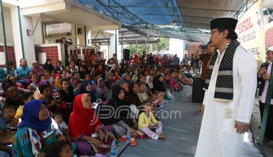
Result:
<svg viewBox="0 0 273 157"><path fill-rule="evenodd" d="M230 28L235 30L238 20L233 18L218 18L210 21L210 29L215 28Z"/></svg>

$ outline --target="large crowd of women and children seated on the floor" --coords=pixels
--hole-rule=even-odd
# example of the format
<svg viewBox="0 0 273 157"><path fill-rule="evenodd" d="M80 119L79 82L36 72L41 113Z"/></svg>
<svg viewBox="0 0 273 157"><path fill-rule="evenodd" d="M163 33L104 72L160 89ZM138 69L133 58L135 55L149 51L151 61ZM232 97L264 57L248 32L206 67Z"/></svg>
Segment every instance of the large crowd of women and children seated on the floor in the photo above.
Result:
<svg viewBox="0 0 273 157"><path fill-rule="evenodd" d="M151 54L152 56L152 54ZM140 56L139 56L140 57ZM148 63L147 63L148 62ZM0 68L0 156L50 156L52 152L73 156L92 155L90 142L102 146L105 130L121 138L141 130L153 139L166 139L155 108L158 99L192 84L189 71L161 67L149 60L71 60L54 67L51 59L43 66L25 59L9 72ZM161 94L163 93L163 94ZM98 107L94 109L95 104ZM118 117L103 117L110 107L122 110ZM98 133L98 138L92 136ZM99 140L100 139L100 140ZM74 152L74 153L73 153Z"/></svg>

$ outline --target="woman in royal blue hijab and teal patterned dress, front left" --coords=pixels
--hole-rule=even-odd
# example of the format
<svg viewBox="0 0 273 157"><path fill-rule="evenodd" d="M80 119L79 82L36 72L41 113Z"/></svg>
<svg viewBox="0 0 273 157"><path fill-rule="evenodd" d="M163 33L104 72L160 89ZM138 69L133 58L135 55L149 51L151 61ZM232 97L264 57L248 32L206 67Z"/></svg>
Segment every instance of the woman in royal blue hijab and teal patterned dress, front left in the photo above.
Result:
<svg viewBox="0 0 273 157"><path fill-rule="evenodd" d="M26 103L21 118L12 142L13 156L43 156L47 145L65 140L58 124L49 117L45 101L31 100Z"/></svg>

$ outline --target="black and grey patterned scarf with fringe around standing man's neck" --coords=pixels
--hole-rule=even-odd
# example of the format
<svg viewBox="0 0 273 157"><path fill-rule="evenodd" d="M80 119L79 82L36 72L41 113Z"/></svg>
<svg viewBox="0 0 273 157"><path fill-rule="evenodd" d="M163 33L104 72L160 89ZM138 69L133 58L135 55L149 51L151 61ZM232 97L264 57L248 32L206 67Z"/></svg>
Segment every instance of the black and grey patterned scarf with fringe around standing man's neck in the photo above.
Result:
<svg viewBox="0 0 273 157"><path fill-rule="evenodd" d="M239 41L233 40L226 48L222 61L219 65L214 93L214 101L221 103L230 103L233 100L233 56L235 50L239 45ZM210 61L207 79L203 87L204 90L207 90L209 87L210 78L212 76L212 71L217 57L218 53L216 53Z"/></svg>

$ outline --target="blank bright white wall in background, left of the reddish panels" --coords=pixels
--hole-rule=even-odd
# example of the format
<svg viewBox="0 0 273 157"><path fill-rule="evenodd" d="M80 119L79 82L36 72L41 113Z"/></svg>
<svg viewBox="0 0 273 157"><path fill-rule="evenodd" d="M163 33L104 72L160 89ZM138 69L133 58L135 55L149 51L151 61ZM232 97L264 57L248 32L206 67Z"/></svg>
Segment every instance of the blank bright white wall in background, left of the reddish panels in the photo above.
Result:
<svg viewBox="0 0 273 157"><path fill-rule="evenodd" d="M184 58L184 41L185 40L170 38L170 54L177 54L180 62Z"/></svg>

